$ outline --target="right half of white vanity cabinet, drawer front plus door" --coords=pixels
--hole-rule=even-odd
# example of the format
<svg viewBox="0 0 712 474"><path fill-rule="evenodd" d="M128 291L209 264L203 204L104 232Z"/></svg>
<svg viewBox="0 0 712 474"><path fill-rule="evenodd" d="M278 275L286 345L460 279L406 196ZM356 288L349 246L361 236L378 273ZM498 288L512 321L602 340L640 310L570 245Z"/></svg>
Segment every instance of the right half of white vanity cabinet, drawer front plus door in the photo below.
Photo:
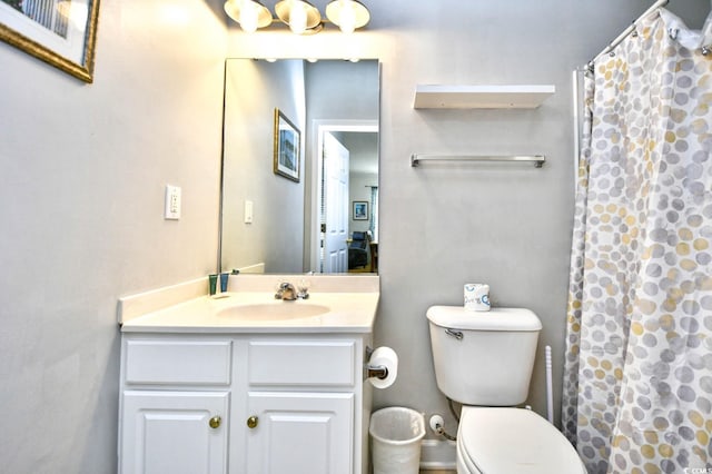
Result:
<svg viewBox="0 0 712 474"><path fill-rule="evenodd" d="M350 474L356 428L354 338L247 343L248 473Z"/></svg>

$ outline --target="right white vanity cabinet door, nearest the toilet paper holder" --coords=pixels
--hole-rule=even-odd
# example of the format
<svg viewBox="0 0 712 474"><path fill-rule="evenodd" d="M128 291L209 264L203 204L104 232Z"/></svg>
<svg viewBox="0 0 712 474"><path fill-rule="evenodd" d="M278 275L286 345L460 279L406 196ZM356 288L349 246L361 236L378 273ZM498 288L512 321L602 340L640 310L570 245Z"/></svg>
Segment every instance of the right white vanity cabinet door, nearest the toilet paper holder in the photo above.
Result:
<svg viewBox="0 0 712 474"><path fill-rule="evenodd" d="M249 474L350 474L354 394L250 392Z"/></svg>

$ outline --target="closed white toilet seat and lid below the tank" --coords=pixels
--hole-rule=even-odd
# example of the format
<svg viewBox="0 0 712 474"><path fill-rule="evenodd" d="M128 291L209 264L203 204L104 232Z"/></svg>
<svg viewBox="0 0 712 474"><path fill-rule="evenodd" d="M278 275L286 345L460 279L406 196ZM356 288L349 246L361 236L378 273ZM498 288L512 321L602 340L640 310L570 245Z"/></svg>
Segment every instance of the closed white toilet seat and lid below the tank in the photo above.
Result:
<svg viewBox="0 0 712 474"><path fill-rule="evenodd" d="M585 474L568 440L535 412L464 406L457 429L459 474Z"/></svg>

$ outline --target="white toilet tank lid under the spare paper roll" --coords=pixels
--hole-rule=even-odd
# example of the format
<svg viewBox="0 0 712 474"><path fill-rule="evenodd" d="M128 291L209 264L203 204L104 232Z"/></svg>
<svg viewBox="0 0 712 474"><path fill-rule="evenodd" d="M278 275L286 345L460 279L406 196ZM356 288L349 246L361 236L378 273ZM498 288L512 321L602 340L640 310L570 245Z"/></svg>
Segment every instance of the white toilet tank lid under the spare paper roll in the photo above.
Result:
<svg viewBox="0 0 712 474"><path fill-rule="evenodd" d="M526 308L466 310L463 306L431 306L426 316L437 326L472 330L541 330L542 322Z"/></svg>

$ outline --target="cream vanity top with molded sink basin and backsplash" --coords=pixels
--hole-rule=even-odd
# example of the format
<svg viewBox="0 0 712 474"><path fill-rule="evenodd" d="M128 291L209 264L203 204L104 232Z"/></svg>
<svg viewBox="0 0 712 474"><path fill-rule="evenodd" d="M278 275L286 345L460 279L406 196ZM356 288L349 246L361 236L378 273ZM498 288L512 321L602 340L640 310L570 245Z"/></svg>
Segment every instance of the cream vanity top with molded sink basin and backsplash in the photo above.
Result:
<svg viewBox="0 0 712 474"><path fill-rule="evenodd" d="M378 307L379 279L368 275L314 275L308 299L275 299L278 283L304 275L230 275L231 292L204 295L205 282L186 290L187 299L168 292L119 300L121 332L166 333L372 333ZM239 284L239 285L237 285ZM189 295L188 295L189 293ZM198 294L198 297L191 295ZM155 309L151 309L155 308Z"/></svg>

